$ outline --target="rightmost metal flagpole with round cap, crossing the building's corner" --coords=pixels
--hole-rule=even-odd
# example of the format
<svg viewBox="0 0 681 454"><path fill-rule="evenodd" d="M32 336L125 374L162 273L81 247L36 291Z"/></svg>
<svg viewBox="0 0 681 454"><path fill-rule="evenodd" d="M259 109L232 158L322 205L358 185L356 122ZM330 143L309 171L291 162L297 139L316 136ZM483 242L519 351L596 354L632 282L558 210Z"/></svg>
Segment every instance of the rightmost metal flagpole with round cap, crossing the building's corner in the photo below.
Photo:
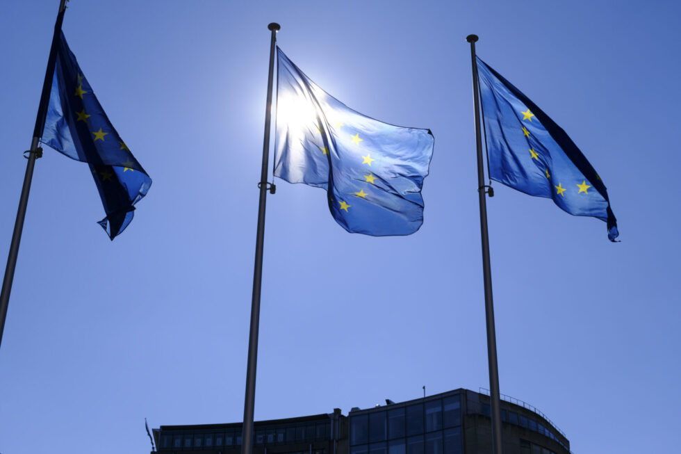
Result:
<svg viewBox="0 0 681 454"><path fill-rule="evenodd" d="M475 106L475 147L477 149L477 193L480 201L480 236L482 238L482 273L485 285L485 318L487 323L487 361L489 363L489 395L492 410L492 452L502 454L501 405L499 395L499 368L497 365L497 339L494 329L494 305L492 302L492 270L489 261L489 232L487 231L487 202L485 175L482 160L482 136L480 133L480 106L477 86L477 63L475 42L477 35L468 35L470 58L473 63L473 104ZM490 194L491 195L491 194Z"/></svg>

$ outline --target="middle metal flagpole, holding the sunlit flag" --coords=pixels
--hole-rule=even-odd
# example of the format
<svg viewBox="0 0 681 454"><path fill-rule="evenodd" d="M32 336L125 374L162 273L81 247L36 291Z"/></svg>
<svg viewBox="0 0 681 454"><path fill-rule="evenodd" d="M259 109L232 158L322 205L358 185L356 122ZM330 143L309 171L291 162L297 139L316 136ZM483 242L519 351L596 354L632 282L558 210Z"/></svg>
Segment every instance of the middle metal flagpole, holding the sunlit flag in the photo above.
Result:
<svg viewBox="0 0 681 454"><path fill-rule="evenodd" d="M260 174L260 204L258 209L258 230L256 233L256 257L253 270L253 298L251 300L251 327L248 337L248 363L246 366L246 396L243 409L243 432L241 453L251 454L253 449L253 414L255 407L256 364L258 362L258 329L260 324L260 291L263 281L263 243L265 241L265 201L268 190L274 194L274 185L268 184L268 159L270 157L270 117L272 112L272 80L274 79L274 47L277 42L279 24L272 22L268 30L270 40L270 74L268 75L267 107L265 108L265 140L263 142L263 167Z"/></svg>

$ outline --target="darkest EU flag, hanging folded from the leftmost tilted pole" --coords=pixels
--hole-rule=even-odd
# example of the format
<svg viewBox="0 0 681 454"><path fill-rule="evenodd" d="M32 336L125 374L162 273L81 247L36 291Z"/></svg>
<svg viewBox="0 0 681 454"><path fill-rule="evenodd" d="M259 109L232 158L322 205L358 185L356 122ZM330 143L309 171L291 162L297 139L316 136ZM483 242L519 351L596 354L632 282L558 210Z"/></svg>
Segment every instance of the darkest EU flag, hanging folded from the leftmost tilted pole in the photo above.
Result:
<svg viewBox="0 0 681 454"><path fill-rule="evenodd" d="M112 240L123 232L151 179L106 117L63 33L40 141L90 165L106 213L99 225Z"/></svg>

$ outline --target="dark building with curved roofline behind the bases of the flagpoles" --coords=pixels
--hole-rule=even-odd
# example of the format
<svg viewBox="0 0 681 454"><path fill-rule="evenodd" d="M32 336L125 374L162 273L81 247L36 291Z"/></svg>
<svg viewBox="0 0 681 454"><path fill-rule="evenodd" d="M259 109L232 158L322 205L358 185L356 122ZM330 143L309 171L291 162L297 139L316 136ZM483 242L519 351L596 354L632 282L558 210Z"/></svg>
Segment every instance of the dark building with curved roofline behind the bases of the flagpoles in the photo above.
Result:
<svg viewBox="0 0 681 454"><path fill-rule="evenodd" d="M482 390L481 390L482 391ZM570 441L545 414L502 396L504 454L569 454ZM487 454L487 394L455 389L360 410L255 423L254 454ZM240 454L241 423L162 425L160 453Z"/></svg>

